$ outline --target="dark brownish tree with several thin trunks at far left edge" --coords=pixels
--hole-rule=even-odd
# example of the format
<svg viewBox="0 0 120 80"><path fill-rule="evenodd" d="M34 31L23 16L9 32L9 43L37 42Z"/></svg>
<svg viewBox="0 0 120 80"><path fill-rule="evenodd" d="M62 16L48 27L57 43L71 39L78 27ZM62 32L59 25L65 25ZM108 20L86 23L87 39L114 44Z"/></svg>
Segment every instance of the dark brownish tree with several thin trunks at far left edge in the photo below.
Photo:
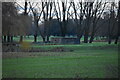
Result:
<svg viewBox="0 0 120 80"><path fill-rule="evenodd" d="M17 16L17 10L12 2L2 3L2 32L4 35L4 42L11 42L13 40L11 35L11 26L14 25L12 19ZM7 40L6 40L7 39Z"/></svg>

